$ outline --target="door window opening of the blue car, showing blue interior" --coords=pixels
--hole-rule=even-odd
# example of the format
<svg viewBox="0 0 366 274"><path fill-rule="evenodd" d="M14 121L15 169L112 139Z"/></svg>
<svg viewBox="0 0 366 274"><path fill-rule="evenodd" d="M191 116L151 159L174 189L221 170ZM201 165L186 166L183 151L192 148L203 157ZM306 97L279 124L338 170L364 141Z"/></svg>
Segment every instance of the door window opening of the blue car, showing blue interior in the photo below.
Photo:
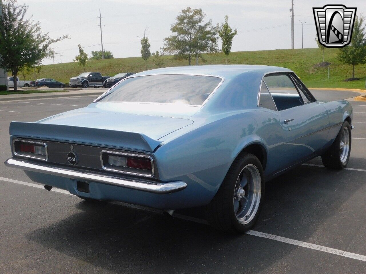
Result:
<svg viewBox="0 0 366 274"><path fill-rule="evenodd" d="M291 109L304 104L294 82L288 75L269 75L265 76L263 80L278 110Z"/></svg>

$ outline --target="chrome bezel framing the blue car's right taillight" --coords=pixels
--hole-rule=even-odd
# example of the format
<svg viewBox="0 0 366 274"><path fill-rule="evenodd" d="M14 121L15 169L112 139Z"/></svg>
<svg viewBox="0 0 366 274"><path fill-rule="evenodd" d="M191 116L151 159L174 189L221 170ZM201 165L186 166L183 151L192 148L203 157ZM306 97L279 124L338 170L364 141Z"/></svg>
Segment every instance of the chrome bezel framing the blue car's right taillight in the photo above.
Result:
<svg viewBox="0 0 366 274"><path fill-rule="evenodd" d="M135 159L141 159L141 160L148 159L151 161L151 170L143 170L143 169L139 169L139 168L110 165L108 163L108 155L124 156L126 158L135 158ZM138 175L138 176L144 176L144 177L153 177L154 176L154 159L153 159L153 157L151 157L149 155L145 155L145 154L135 154L135 153L127 153L127 152L102 150L100 152L100 163L104 170L108 170L108 171L112 171L112 172L119 172L119 173L123 173L123 174Z"/></svg>

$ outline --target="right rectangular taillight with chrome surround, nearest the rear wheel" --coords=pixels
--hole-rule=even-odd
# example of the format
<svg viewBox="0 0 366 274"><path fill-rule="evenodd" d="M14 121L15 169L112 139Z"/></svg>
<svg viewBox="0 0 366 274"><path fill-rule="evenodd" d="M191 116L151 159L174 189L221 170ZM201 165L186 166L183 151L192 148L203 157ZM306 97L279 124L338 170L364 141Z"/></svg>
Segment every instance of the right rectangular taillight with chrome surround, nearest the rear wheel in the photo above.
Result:
<svg viewBox="0 0 366 274"><path fill-rule="evenodd" d="M101 163L105 170L153 176L153 159L147 155L124 152L102 151Z"/></svg>

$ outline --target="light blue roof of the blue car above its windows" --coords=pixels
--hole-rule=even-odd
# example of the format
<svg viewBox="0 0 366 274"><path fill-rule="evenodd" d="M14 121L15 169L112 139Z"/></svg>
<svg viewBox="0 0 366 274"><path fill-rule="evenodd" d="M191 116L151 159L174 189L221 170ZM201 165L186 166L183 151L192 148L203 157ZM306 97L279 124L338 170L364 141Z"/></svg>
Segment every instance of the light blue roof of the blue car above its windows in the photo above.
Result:
<svg viewBox="0 0 366 274"><path fill-rule="evenodd" d="M287 68L279 66L263 66L263 65L199 65L199 66L175 66L169 68L151 69L134 74L149 75L149 74L198 74L198 75L214 75L224 78L235 78L243 73L251 75L258 73L263 75L270 72L291 71Z"/></svg>

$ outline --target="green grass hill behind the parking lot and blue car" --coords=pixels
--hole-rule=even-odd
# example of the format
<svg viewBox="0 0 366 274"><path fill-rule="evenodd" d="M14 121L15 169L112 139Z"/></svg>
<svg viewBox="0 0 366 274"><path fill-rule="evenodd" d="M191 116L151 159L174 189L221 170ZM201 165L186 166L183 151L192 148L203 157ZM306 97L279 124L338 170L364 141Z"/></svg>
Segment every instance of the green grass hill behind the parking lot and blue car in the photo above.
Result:
<svg viewBox="0 0 366 274"><path fill-rule="evenodd" d="M366 65L355 67L356 81L344 81L352 77L352 66L341 64L337 58L337 49L325 49L325 62L330 63L330 79L328 67L314 67L322 62L322 53L318 48L311 49L286 49L286 50L261 50L252 52L232 52L229 55L229 64L257 64L283 66L292 69L307 85L307 87L325 88L358 88L365 89ZM225 64L225 56L219 54L204 54L205 64ZM154 69L153 57L147 60L147 69ZM172 56L163 56L163 66L184 66L188 61L177 61ZM201 61L199 64L203 64ZM145 70L145 61L141 57L115 58L107 60L88 61L86 71L99 71L102 75L114 76L120 72L140 72ZM40 77L50 77L68 83L72 76L83 72L82 66L76 62L45 65ZM21 78L21 76L19 75ZM32 78L33 75L27 77ZM31 80L31 79L29 79Z"/></svg>

